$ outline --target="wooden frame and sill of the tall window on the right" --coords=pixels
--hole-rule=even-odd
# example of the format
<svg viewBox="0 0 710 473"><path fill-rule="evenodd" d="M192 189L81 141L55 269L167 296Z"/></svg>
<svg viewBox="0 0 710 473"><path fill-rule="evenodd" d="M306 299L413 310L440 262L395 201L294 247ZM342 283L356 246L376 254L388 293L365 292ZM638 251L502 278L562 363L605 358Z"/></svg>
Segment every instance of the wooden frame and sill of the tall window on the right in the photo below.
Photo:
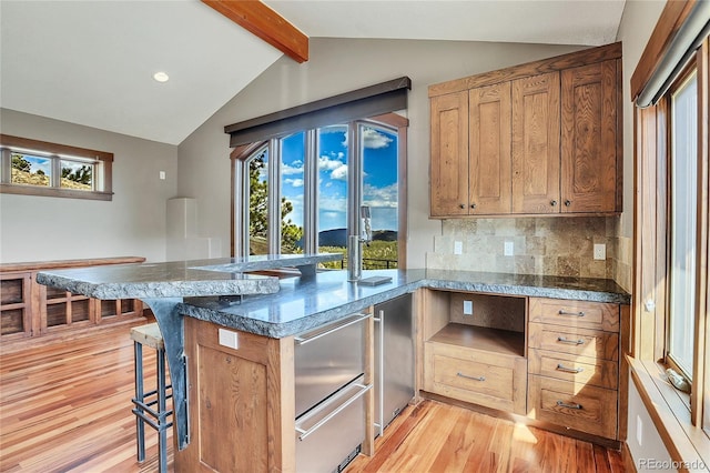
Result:
<svg viewBox="0 0 710 473"><path fill-rule="evenodd" d="M661 36L672 32L666 27L676 24L687 14L681 2L668 2L653 36L649 40L631 80L632 97L638 99L635 87L637 73L648 80L661 51L655 50L663 41ZM687 18L687 17L684 17ZM672 19L676 19L671 21ZM655 38L659 36L659 38ZM710 320L708 315L708 246L710 227L708 210L710 181L708 163L708 130L710 129L709 77L710 40L704 38L693 54L691 63L673 77L670 88L661 91L660 100L648 108L635 107L635 254L633 306L631 326L633 340L627 352L631 379L636 384L649 415L676 462L702 462L710 465ZM681 64L683 66L683 64ZM669 316L669 212L670 212L670 148L671 110L670 91L682 83L687 72L697 68L698 81L698 209L696 242L696 308L693 333L693 389L682 393L670 385L665 370L666 343ZM670 78L668 78L670 80ZM637 81L643 84L643 81ZM648 82L646 82L648 83ZM687 464L687 463L682 463Z"/></svg>

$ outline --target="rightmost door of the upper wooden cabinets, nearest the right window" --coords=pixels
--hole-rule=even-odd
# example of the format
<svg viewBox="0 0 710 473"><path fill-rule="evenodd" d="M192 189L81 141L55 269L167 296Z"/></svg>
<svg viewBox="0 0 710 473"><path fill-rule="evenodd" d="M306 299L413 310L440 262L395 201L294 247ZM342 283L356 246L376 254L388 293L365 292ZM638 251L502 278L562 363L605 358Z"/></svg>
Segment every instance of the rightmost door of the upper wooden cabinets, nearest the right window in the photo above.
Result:
<svg viewBox="0 0 710 473"><path fill-rule="evenodd" d="M561 82L561 211L618 211L617 62L565 70Z"/></svg>

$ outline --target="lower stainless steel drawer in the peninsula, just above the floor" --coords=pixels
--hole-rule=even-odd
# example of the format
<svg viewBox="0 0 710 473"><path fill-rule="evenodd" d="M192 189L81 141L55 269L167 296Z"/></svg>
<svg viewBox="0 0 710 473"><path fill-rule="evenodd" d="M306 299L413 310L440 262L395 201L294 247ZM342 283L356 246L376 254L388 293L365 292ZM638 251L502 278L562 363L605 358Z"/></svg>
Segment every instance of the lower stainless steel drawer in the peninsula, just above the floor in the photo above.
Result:
<svg viewBox="0 0 710 473"><path fill-rule="evenodd" d="M296 472L329 473L365 441L363 376L296 421Z"/></svg>

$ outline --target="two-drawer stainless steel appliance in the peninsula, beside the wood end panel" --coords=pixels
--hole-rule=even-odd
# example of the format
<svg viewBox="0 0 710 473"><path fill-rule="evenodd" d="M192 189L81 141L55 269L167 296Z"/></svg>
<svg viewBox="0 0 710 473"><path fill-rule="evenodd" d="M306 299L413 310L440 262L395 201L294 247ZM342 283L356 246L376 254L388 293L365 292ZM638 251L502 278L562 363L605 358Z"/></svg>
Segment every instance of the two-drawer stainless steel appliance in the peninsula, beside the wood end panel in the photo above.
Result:
<svg viewBox="0 0 710 473"><path fill-rule="evenodd" d="M294 338L296 471L329 473L365 440L365 321L354 314Z"/></svg>

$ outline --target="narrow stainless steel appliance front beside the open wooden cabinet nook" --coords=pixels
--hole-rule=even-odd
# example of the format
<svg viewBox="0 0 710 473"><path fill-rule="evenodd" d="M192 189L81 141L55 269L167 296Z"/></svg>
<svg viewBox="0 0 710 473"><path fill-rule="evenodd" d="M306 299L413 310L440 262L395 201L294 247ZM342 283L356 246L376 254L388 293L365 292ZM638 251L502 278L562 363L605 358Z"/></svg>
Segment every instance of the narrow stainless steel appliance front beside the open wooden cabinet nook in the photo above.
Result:
<svg viewBox="0 0 710 473"><path fill-rule="evenodd" d="M375 433L414 397L412 294L375 305Z"/></svg>

